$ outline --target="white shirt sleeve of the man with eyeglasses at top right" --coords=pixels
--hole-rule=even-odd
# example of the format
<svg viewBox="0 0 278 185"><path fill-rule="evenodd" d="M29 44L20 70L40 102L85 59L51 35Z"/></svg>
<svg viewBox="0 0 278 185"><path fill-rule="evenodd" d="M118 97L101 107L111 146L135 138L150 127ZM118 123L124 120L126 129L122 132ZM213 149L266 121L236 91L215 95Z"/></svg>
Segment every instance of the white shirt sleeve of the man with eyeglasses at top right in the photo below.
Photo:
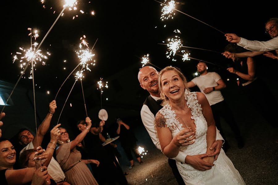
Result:
<svg viewBox="0 0 278 185"><path fill-rule="evenodd" d="M278 37L268 41L247 40L241 37L238 45L251 51L272 51L278 49Z"/></svg>

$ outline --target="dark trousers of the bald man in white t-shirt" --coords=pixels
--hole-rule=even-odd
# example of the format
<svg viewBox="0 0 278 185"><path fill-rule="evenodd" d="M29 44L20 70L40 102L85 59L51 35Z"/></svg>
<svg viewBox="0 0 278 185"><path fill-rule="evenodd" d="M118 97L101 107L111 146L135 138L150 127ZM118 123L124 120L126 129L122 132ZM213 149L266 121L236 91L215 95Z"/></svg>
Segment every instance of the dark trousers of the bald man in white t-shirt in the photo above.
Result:
<svg viewBox="0 0 278 185"><path fill-rule="evenodd" d="M213 112L213 118L215 121L215 125L216 125L217 129L219 130L220 134L222 135L222 137L224 138L224 140L226 141L226 138L225 138L225 134L221 127L220 117L222 117L228 123L228 125L230 126L230 128L232 129L232 131L235 134L235 138L237 139L237 141L240 141L242 139L240 130L234 119L232 110L230 109L230 107L228 106L226 101L223 100L217 104L211 105L210 107Z"/></svg>

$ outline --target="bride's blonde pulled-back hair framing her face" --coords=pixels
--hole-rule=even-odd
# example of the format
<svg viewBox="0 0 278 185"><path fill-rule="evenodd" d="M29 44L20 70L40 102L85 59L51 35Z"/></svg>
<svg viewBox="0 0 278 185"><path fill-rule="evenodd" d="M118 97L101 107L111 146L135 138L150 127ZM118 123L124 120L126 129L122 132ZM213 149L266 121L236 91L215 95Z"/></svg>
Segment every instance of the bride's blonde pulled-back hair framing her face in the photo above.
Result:
<svg viewBox="0 0 278 185"><path fill-rule="evenodd" d="M158 86L159 86L159 91L160 91L160 97L162 100L166 101L166 100L169 100L168 97L165 96L165 94L163 93L162 91L162 75L163 73L165 73L166 71L174 71L176 72L179 77L181 78L181 80L183 81L183 85L184 85L184 93L186 93L187 91L187 94L190 92L189 88L187 87L187 81L186 81L186 78L185 76L183 75L183 73L180 71L179 68L174 68L172 66L167 66L166 68L162 69L160 72L159 72L159 75L158 75Z"/></svg>

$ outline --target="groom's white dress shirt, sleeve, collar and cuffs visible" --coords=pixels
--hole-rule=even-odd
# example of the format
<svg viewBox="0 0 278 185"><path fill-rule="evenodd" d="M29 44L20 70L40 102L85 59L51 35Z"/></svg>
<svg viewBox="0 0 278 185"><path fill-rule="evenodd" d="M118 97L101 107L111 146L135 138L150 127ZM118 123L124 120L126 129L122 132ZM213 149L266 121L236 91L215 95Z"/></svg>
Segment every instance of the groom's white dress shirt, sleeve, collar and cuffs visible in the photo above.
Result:
<svg viewBox="0 0 278 185"><path fill-rule="evenodd" d="M154 97L152 95L151 95L151 97L154 98L155 101L160 99L160 97ZM164 106L167 103L168 103L168 101L163 101L161 105ZM157 131L156 131L155 115L150 111L149 107L145 104L142 106L142 109L141 109L141 119L142 119L142 122L143 122L146 130L148 131L148 133L150 135L150 138L152 139L154 145L160 151L162 151L161 146L160 146L160 142L159 142L159 139L158 139L158 134L157 134ZM223 140L223 143L224 143L224 139L222 138L222 136L219 133L219 130L217 128L216 128L216 140ZM185 160L186 156L187 156L187 154L185 154L182 151L179 151L179 154L173 159L175 159L178 162L183 162L184 163L184 160Z"/></svg>

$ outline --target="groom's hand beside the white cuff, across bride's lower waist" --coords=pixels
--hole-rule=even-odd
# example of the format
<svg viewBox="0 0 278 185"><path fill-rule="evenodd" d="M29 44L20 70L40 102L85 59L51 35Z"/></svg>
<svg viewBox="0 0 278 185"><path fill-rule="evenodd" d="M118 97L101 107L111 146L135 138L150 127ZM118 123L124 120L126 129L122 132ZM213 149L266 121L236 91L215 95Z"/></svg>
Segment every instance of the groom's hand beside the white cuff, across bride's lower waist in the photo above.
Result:
<svg viewBox="0 0 278 185"><path fill-rule="evenodd" d="M187 155L184 162L190 164L193 168L200 171L210 170L211 167L214 166L214 164L204 161L203 158L205 157L208 157L208 155L207 154Z"/></svg>

